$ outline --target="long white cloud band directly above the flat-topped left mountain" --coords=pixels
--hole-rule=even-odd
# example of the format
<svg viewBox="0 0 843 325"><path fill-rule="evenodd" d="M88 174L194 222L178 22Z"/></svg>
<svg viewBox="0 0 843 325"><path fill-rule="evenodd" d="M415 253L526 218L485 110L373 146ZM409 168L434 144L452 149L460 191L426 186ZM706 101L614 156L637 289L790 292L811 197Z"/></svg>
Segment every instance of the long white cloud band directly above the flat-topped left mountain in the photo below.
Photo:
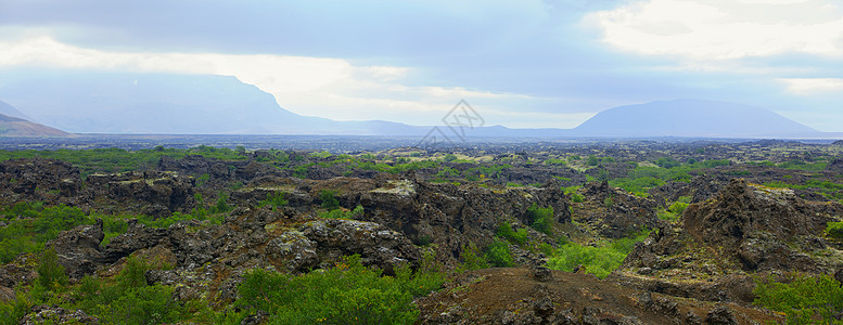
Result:
<svg viewBox="0 0 843 325"><path fill-rule="evenodd" d="M406 81L410 68L355 66L340 58L108 52L61 43L47 36L0 39L0 48L3 49L0 68L28 66L234 76L273 94L279 105L291 112L336 120L380 119L436 125L463 99L482 104L483 109L498 112L487 119L488 125L549 127L551 122L570 120L555 114L506 113L513 107L552 104L552 99L460 87L408 87L401 81Z"/></svg>

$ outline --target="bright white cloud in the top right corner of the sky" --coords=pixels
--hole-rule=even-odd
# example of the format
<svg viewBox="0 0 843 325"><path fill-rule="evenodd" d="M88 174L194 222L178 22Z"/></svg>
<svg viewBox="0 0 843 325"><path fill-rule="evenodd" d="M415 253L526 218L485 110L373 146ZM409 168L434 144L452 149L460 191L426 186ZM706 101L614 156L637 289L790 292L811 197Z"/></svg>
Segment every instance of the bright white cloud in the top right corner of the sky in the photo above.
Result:
<svg viewBox="0 0 843 325"><path fill-rule="evenodd" d="M694 61L787 52L843 55L843 11L831 0L646 0L587 15L625 51Z"/></svg>

